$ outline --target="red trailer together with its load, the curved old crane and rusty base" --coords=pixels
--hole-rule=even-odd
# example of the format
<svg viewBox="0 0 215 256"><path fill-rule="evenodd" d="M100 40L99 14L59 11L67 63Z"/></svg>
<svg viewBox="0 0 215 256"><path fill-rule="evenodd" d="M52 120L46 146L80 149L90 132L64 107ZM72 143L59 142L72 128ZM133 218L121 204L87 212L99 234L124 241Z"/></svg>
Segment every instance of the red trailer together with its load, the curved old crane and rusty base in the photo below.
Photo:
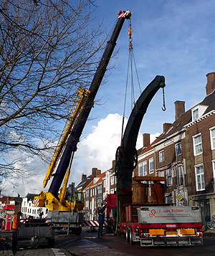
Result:
<svg viewBox="0 0 215 256"><path fill-rule="evenodd" d="M126 241L141 246L202 245L202 222L199 207L174 207L165 204L165 177L133 177L138 163L135 144L143 116L159 88L165 87L165 78L156 76L141 93L130 114L121 145L116 151L115 176L117 193L107 196L109 225L113 222L116 232L125 234ZM148 189L153 199L148 202ZM110 197L110 198L109 198ZM117 197L117 199L116 199ZM110 207L117 204L117 210ZM117 200L117 202L116 202ZM111 214L110 214L111 213ZM114 214L116 213L116 214Z"/></svg>

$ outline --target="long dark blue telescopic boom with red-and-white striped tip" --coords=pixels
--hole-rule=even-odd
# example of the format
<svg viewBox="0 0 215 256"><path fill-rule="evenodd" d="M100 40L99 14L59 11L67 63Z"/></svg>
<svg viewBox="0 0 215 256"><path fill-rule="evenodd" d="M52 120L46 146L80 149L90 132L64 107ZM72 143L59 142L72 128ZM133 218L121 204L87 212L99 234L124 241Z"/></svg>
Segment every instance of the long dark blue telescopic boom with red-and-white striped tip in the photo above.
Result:
<svg viewBox="0 0 215 256"><path fill-rule="evenodd" d="M110 37L110 40L107 42L105 52L102 54L102 58L100 60L99 66L95 72L92 83L90 85L90 95L87 98L85 103L85 107L80 114L79 121L75 124L72 133L70 134L67 144L65 146L65 150L62 153L62 157L59 161L59 165L57 166L57 171L53 175L52 183L49 186L49 192L52 193L55 197L57 197L58 191L62 184L62 181L65 177L65 173L70 166L70 160L72 157L72 153L77 151L77 143L80 140L80 136L85 127L85 123L87 122L87 118L90 114L90 110L94 104L95 96L97 94L97 90L100 87L100 83L102 82L102 78L105 75L106 68L108 66L108 62L110 61L110 57L113 54L113 49L115 48L116 41L118 39L118 35L120 34L120 30L123 27L123 23L125 19L130 19L131 12L130 11L120 11L118 14L118 22L115 24L115 28L113 29L113 33Z"/></svg>

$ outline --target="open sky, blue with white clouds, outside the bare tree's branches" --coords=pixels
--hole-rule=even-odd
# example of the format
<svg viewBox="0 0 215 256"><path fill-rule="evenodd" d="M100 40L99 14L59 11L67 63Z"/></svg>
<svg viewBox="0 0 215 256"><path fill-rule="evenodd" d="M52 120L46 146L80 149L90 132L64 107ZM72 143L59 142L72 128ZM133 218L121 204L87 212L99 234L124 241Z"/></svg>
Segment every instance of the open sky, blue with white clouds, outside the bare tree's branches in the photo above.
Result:
<svg viewBox="0 0 215 256"><path fill-rule="evenodd" d="M186 110L194 107L206 96L206 74L215 72L215 1L214 0L97 0L93 24L102 21L103 28L113 29L120 10L132 12L133 54L140 87L144 88L156 77L166 80L166 111L163 112L162 90L151 101L140 127L136 148L143 146L143 133L151 133L151 142L163 132L163 123L175 120L176 100L185 101ZM120 146L125 86L128 74L128 21L118 37L115 47L117 58L110 61L113 69L105 74L95 105L90 113L72 163L70 183L81 181L82 174L90 175L92 168L102 172L112 167L115 151ZM135 72L134 72L135 77ZM128 88L130 82L128 82ZM135 100L138 99L138 81L134 80ZM128 89L130 93L130 89ZM125 119L132 110L127 95ZM48 169L39 159L31 163L33 175L11 179L2 183L2 194L26 196L38 194Z"/></svg>

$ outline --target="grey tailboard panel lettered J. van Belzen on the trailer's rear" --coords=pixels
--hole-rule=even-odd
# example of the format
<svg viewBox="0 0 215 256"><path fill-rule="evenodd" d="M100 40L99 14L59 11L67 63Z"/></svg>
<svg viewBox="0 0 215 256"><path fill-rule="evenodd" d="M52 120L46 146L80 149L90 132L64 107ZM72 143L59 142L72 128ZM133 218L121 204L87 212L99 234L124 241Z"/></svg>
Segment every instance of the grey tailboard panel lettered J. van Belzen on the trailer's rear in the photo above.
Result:
<svg viewBox="0 0 215 256"><path fill-rule="evenodd" d="M140 207L140 223L201 222L199 207Z"/></svg>

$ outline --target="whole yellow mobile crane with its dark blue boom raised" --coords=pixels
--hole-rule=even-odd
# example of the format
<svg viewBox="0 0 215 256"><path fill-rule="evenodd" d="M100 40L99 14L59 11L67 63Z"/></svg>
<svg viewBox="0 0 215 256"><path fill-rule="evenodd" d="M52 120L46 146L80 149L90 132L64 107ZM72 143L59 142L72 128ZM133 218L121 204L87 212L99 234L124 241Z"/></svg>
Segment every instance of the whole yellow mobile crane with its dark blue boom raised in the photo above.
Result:
<svg viewBox="0 0 215 256"><path fill-rule="evenodd" d="M47 207L49 209L47 218L52 220L52 224L56 228L70 224L72 232L80 233L82 231L81 211L84 207L84 196L82 192L75 191L74 186L67 188L72 159L75 151L77 151L77 143L80 140L90 110L94 105L97 90L105 75L120 30L123 27L125 19L130 19L130 16L130 11L119 12L118 22L116 22L110 40L107 42L105 52L102 54L89 90L80 87L77 92L77 97L75 98L70 112L70 118L68 119L69 122L65 125L44 179L44 187L47 186L49 179L52 179L49 191L41 191L39 196L34 197L35 206ZM59 193L63 179L65 181ZM71 212L72 214L69 214Z"/></svg>

